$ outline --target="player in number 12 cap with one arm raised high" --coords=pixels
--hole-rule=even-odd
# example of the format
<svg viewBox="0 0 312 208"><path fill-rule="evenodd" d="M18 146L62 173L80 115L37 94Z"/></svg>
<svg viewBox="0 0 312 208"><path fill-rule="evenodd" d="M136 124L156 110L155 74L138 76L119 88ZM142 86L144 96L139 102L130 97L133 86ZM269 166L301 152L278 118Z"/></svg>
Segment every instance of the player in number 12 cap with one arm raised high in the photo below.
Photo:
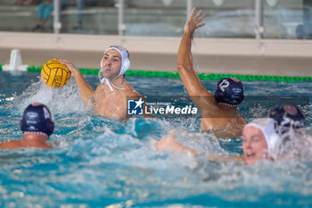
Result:
<svg viewBox="0 0 312 208"><path fill-rule="evenodd" d="M205 15L200 11L193 17L194 12L195 8L185 23L185 34L177 54L177 71L189 96L201 109L201 130L212 130L216 137L239 137L247 123L237 112L237 106L244 98L242 82L233 78L221 79L215 95L201 85L193 70L191 46L193 32L205 24L201 22Z"/></svg>

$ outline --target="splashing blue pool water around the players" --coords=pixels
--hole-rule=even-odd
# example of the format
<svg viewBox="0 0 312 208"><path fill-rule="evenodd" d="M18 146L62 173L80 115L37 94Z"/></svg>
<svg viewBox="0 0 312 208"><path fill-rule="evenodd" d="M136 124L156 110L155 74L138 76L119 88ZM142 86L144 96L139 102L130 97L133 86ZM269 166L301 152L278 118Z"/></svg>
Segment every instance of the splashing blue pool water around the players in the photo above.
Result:
<svg viewBox="0 0 312 208"><path fill-rule="evenodd" d="M96 76L86 76L92 87ZM186 96L179 79L128 77L144 96ZM203 81L213 90L216 81ZM311 82L244 81L248 120L275 102L299 102L311 125ZM157 151L155 141L178 129L187 146L215 154L242 154L241 139L199 133L198 119L130 119L94 115L70 79L45 87L38 73L0 71L0 140L22 137L23 109L49 106L56 123L50 150L0 150L1 207L311 207L312 157L242 166L209 162L205 155ZM168 88L170 90L168 90Z"/></svg>

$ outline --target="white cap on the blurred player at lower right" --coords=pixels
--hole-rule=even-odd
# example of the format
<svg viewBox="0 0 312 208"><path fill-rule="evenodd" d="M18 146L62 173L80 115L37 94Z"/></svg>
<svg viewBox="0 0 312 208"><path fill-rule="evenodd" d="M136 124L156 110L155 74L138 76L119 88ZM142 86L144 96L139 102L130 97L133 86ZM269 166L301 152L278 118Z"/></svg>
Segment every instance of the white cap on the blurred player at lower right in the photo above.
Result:
<svg viewBox="0 0 312 208"><path fill-rule="evenodd" d="M275 149L276 142L280 138L275 131L275 121L270 118L256 119L246 124L243 129L248 127L254 127L261 130L267 141L267 152L268 154L272 153Z"/></svg>

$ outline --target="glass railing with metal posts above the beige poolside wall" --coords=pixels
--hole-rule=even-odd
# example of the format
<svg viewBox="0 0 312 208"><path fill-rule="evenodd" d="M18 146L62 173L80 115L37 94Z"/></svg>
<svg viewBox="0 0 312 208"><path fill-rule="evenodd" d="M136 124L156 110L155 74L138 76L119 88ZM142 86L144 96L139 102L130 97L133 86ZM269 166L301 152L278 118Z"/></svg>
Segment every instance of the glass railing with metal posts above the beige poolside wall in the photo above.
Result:
<svg viewBox="0 0 312 208"><path fill-rule="evenodd" d="M198 37L249 37L259 42L312 37L310 0L77 0L95 3L83 10L84 27L78 30L73 29L78 7L63 9L65 0L53 1L53 19L39 32L180 37L195 6L206 13ZM1 18L7 19L0 21L0 31L32 31L36 10L37 5L10 7L0 2Z"/></svg>

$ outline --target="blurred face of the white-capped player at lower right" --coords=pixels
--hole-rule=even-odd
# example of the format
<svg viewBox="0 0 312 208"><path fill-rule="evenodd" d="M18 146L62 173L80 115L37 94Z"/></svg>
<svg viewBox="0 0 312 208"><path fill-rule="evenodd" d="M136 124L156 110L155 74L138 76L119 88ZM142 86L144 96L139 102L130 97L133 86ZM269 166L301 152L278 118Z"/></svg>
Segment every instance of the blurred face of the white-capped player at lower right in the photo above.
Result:
<svg viewBox="0 0 312 208"><path fill-rule="evenodd" d="M242 150L247 164L267 157L267 141L262 131L248 127L242 131Z"/></svg>

